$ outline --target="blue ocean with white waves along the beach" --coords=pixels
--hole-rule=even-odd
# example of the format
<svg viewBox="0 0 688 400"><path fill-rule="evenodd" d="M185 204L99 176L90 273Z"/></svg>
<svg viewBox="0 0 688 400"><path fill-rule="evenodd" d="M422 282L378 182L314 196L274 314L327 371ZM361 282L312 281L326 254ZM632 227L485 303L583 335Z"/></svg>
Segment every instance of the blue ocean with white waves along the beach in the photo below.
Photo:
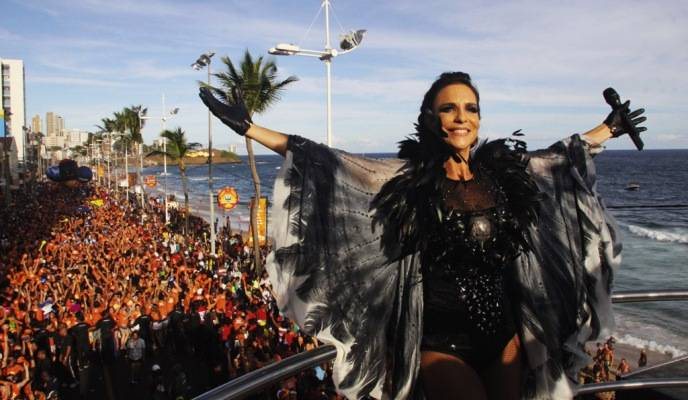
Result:
<svg viewBox="0 0 688 400"><path fill-rule="evenodd" d="M393 154L366 156L387 158ZM282 158L261 155L256 161L262 195L270 199ZM608 206L688 204L688 150L605 151L595 162L598 190ZM151 167L144 173L159 175L160 172L162 167ZM168 165L168 173L168 192L181 202L183 192L176 166ZM192 211L208 218L208 167L190 166L187 175ZM222 187L232 186L239 194L239 205L229 212L216 207L216 217L220 221L229 217L233 229L246 230L248 202L253 196L247 163L214 165L213 176L215 193ZM159 176L156 189L162 190L163 182L164 177ZM631 182L640 188L626 190ZM611 212L624 246L621 268L614 280L615 290L688 289L688 208L648 207L611 209ZM674 357L688 354L688 302L636 303L614 308L614 336L620 342L671 352Z"/></svg>

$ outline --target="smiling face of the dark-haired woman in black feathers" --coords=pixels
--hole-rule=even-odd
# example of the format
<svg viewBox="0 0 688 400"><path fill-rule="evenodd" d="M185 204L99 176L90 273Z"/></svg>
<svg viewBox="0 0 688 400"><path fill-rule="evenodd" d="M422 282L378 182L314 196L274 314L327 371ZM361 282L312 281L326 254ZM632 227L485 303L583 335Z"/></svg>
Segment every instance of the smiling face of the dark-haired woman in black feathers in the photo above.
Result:
<svg viewBox="0 0 688 400"><path fill-rule="evenodd" d="M435 97L433 111L447 134L444 141L457 153L467 156L480 129L478 99L473 90L459 83L445 86Z"/></svg>

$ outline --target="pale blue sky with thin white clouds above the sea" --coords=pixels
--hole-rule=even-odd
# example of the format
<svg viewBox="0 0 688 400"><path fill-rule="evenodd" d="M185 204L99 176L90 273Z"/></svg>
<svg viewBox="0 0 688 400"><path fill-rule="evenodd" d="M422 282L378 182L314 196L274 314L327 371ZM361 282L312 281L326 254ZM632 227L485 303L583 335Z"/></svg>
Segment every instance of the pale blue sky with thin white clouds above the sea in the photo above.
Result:
<svg viewBox="0 0 688 400"><path fill-rule="evenodd" d="M207 109L190 65L206 51L239 60L270 57L277 43L322 50L320 0L0 0L0 58L22 59L27 123L53 111L67 128L96 124L130 105L148 107L152 142L168 129L207 144ZM611 86L644 107L646 148L688 148L688 1L331 0L333 42L367 29L355 51L333 61L334 146L394 152L413 132L422 96L444 71L471 74L481 95L481 136L522 129L541 148L604 120ZM310 27L310 29L309 29ZM276 57L279 76L299 81L254 121L326 141L325 66ZM44 122L45 123L45 122ZM213 145L243 143L213 118ZM631 149L627 137L610 149ZM267 149L257 146L258 153ZM239 153L245 152L239 147Z"/></svg>

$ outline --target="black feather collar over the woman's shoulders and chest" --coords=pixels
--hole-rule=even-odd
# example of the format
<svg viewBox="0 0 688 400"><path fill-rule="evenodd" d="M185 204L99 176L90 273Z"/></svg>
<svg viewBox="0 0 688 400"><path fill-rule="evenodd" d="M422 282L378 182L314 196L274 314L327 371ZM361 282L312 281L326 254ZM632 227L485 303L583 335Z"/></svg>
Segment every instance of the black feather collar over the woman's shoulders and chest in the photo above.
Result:
<svg viewBox="0 0 688 400"><path fill-rule="evenodd" d="M406 163L400 174L380 189L371 206L374 223L383 227L383 250L391 260L423 252L427 238L444 217L440 191L446 176L444 163L455 153L432 133L417 133L416 137L400 142L398 157ZM469 165L472 171L486 171L505 193L517 219L514 237L523 250L529 250L527 227L537 221L540 194L526 171L525 142L483 141L473 149Z"/></svg>

